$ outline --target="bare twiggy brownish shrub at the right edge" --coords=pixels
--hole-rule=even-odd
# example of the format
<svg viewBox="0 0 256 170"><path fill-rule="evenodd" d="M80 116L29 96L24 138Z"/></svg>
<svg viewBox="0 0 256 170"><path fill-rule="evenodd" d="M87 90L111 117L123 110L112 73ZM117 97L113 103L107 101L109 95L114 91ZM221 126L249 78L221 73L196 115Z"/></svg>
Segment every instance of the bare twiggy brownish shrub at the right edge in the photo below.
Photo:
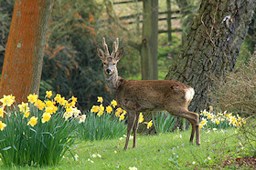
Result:
<svg viewBox="0 0 256 170"><path fill-rule="evenodd" d="M256 57L248 65L243 64L236 72L227 75L211 94L213 105L219 110L238 113L242 116L256 114Z"/></svg>

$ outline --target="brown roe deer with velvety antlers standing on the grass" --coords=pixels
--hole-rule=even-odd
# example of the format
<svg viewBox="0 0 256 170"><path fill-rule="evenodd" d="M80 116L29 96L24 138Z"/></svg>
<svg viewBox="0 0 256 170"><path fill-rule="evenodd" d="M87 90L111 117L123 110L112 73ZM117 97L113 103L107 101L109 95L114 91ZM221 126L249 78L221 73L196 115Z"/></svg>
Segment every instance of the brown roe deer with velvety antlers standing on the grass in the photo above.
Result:
<svg viewBox="0 0 256 170"><path fill-rule="evenodd" d="M127 137L124 150L127 149L133 129L133 147L136 146L136 131L140 112L166 110L171 115L187 118L192 125L190 142L196 132L196 142L200 145L198 114L187 110L195 94L191 86L175 80L125 80L118 76L116 64L123 56L123 47L118 48L118 38L113 42L110 55L105 38L102 38L103 52L97 45L97 54L103 63L103 72L107 86L115 95L117 104L127 111Z"/></svg>

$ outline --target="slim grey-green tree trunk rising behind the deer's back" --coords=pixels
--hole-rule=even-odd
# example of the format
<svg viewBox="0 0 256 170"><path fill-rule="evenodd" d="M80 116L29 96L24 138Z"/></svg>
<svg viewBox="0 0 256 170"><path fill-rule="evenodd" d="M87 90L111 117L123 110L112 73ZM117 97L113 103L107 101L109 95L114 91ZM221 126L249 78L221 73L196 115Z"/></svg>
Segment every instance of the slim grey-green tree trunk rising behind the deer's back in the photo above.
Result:
<svg viewBox="0 0 256 170"><path fill-rule="evenodd" d="M157 35L158 0L144 0L143 40L142 40L142 79L158 79Z"/></svg>

